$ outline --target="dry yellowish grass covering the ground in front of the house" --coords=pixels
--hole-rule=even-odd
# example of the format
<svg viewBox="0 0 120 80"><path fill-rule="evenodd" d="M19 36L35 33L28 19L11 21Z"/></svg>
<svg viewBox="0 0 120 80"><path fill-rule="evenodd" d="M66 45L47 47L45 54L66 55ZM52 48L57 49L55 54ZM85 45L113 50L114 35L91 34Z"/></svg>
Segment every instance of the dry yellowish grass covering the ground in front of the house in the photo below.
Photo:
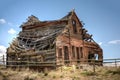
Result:
<svg viewBox="0 0 120 80"><path fill-rule="evenodd" d="M0 68L0 80L119 80L120 68L97 67L92 69L73 69L62 67L57 70L35 72L29 69L3 69Z"/></svg>

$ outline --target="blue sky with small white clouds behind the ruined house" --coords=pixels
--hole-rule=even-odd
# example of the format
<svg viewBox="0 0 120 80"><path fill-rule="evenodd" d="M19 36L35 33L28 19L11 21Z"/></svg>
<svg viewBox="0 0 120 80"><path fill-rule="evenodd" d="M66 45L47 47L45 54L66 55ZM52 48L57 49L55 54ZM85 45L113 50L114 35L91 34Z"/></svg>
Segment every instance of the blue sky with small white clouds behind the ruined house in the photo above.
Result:
<svg viewBox="0 0 120 80"><path fill-rule="evenodd" d="M0 0L0 55L30 15L56 20L75 8L80 21L101 45L104 58L120 58L120 0Z"/></svg>

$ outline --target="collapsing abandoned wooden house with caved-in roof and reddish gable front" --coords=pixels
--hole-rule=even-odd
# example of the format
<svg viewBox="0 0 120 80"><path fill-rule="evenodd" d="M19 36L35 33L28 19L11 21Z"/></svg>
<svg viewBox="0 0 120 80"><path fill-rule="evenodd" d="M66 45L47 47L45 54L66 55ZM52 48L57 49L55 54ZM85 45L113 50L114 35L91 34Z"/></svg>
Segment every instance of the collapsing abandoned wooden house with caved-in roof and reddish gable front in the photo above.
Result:
<svg viewBox="0 0 120 80"><path fill-rule="evenodd" d="M30 61L29 65L41 62L39 66L89 64L90 59L101 60L102 64L101 47L88 34L75 11L51 21L40 21L32 15L20 28L22 31L7 48L8 66L27 65L26 61Z"/></svg>

